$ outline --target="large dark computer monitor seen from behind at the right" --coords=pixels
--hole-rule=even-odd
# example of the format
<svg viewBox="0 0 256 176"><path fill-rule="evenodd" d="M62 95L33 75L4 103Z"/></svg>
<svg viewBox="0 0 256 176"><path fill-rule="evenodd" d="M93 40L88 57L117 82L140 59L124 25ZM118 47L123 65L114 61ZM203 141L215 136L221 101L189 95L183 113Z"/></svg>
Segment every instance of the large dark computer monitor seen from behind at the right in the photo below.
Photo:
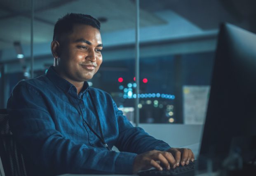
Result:
<svg viewBox="0 0 256 176"><path fill-rule="evenodd" d="M224 160L232 141L254 135L256 34L225 23L218 35L200 156Z"/></svg>

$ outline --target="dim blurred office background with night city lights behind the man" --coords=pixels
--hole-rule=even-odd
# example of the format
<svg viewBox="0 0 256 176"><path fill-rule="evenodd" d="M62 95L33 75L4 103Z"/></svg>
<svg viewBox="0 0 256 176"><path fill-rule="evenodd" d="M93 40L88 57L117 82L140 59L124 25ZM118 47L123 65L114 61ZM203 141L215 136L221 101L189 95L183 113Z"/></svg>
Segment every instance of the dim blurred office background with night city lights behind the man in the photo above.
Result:
<svg viewBox="0 0 256 176"><path fill-rule="evenodd" d="M184 122L184 86L211 85L219 24L256 32L255 7L254 0L140 0L141 123ZM52 65L54 23L67 12L101 21L103 64L90 85L110 93L132 118L135 1L34 0L34 77ZM0 25L0 108L5 108L17 82L31 78L31 0L0 0Z"/></svg>

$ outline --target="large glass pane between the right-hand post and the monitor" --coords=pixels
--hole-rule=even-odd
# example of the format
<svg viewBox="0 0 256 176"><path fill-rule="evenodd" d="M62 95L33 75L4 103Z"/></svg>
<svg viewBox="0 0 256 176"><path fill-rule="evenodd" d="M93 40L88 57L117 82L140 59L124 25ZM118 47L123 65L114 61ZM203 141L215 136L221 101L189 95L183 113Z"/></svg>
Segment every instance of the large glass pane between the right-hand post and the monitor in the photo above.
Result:
<svg viewBox="0 0 256 176"><path fill-rule="evenodd" d="M249 1L141 0L140 9L156 21L140 16L140 122L203 124L218 26L256 31Z"/></svg>

